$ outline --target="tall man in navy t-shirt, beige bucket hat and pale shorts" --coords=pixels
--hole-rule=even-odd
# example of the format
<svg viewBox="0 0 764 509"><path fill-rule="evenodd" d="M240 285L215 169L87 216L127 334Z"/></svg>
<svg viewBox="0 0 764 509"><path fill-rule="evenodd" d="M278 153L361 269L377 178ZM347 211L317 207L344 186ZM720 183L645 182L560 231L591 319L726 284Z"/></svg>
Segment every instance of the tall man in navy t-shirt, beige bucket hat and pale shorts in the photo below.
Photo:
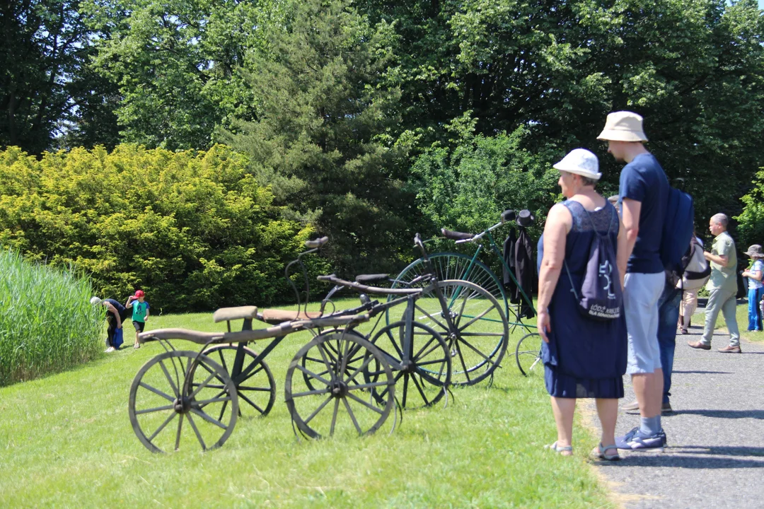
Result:
<svg viewBox="0 0 764 509"><path fill-rule="evenodd" d="M665 272L659 250L669 196L669 180L658 160L643 145L647 137L642 117L631 111L607 115L597 137L607 140L607 151L626 166L620 174L620 202L626 250L630 253L623 282L623 308L629 338L626 372L639 404L641 424L625 437L620 449L647 449L665 445L661 427L663 372L658 342L659 298ZM605 445L605 444L603 444Z"/></svg>

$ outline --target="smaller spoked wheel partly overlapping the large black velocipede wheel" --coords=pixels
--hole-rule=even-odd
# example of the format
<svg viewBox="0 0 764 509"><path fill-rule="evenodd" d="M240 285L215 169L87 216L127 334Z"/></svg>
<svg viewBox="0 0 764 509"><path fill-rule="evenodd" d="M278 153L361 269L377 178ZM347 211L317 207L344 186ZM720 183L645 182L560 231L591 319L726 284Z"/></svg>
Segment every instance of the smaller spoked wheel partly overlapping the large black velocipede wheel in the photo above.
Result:
<svg viewBox="0 0 764 509"><path fill-rule="evenodd" d="M406 340L410 337L410 341ZM451 384L452 360L448 345L432 327L412 322L406 331L406 321L397 321L377 332L371 340L380 349L395 373L400 406L406 410L429 407L438 403ZM404 351L408 346L408 355ZM378 369L364 373L374 382ZM374 398L387 398L387 388L374 389Z"/></svg>

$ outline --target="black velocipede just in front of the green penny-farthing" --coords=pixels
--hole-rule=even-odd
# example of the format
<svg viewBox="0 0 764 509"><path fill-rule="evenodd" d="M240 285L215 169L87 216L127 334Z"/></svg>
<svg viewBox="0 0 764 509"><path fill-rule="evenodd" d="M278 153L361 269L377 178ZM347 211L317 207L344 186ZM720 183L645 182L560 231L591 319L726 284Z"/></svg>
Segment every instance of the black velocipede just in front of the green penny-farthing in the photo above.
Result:
<svg viewBox="0 0 764 509"><path fill-rule="evenodd" d="M440 279L419 234L416 234L414 243L422 254L422 271L416 277L403 282L390 279L387 274L358 275L355 282L349 282L335 275L321 276L319 279L335 283L325 302L330 301L340 288L362 292L362 299L367 298L368 294L387 295L387 303L379 304L384 315L377 319L379 324L384 318L384 327L371 336L371 343L382 350L393 370L398 366L410 366L412 359L406 358L406 355L429 352L430 343L426 343L428 348L425 350L416 350L411 344L405 344L406 341L416 343L418 336L426 340L439 337L445 343L441 346L445 356L452 358L450 383L473 385L481 382L497 369L507 350L509 328L502 305L473 282ZM392 288L368 285L370 282L390 282ZM406 306L398 305L404 301L398 295L410 295ZM377 324L374 324L374 329ZM401 370L396 375L397 379L403 377L403 389L399 388L399 391L403 390L403 395L411 393L410 389L406 389L406 380L410 376L413 376L413 385L417 390L419 386L416 382L432 383L432 377L442 376L430 364L422 364L418 359L414 362L419 368L410 366L409 372ZM419 394L422 401L423 393L421 391ZM429 401L429 404L433 402Z"/></svg>

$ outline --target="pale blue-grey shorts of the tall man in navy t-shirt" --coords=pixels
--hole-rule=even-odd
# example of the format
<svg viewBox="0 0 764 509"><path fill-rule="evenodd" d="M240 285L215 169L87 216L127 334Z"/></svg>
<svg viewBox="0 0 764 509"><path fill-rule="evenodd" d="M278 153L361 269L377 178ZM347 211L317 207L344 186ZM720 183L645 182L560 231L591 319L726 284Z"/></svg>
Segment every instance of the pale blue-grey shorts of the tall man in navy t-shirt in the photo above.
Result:
<svg viewBox="0 0 764 509"><path fill-rule="evenodd" d="M629 338L630 375L652 373L661 368L658 346L658 299L665 286L665 274L626 274L623 284L623 308Z"/></svg>

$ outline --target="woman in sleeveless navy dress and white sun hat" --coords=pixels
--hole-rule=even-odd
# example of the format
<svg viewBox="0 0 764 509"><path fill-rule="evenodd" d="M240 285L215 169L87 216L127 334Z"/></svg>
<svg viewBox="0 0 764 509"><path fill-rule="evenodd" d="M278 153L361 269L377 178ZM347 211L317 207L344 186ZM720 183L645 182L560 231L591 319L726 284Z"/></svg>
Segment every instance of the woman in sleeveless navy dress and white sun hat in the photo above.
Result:
<svg viewBox="0 0 764 509"><path fill-rule="evenodd" d="M626 372L626 321L594 321L578 309L571 282L581 290L589 247L597 234L609 235L617 246L617 266L623 288L626 272L626 232L613 205L594 186L602 174L597 156L575 149L554 165L558 184L568 198L549 210L539 240L539 314L545 384L552 397L557 424L556 452L572 454L573 414L577 398L596 398L602 425L595 453L620 459L615 446L618 398L623 398ZM565 272L565 274L562 274ZM568 276L569 272L569 276ZM562 275L561 275L562 274ZM618 283L616 283L618 284Z"/></svg>

